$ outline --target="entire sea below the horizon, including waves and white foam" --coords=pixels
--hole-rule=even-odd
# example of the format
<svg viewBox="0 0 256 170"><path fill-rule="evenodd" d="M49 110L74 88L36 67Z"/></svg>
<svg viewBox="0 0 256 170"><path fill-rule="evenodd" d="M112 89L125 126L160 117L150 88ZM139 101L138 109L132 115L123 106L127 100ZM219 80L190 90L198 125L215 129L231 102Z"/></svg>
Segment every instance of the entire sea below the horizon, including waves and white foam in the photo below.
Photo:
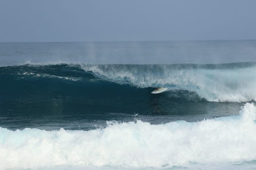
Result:
<svg viewBox="0 0 256 170"><path fill-rule="evenodd" d="M255 101L256 40L0 43L0 169L255 169Z"/></svg>

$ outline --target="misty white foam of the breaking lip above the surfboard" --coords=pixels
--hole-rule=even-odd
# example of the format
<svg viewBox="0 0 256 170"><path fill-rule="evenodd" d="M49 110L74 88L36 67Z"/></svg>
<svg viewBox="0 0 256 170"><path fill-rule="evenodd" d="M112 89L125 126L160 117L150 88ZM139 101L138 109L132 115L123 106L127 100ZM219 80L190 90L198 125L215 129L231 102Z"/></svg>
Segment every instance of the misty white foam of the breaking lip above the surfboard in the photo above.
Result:
<svg viewBox="0 0 256 170"><path fill-rule="evenodd" d="M168 65L82 65L99 77L137 87L164 86L173 90L195 91L214 102L256 100L256 68L202 69L171 68Z"/></svg>

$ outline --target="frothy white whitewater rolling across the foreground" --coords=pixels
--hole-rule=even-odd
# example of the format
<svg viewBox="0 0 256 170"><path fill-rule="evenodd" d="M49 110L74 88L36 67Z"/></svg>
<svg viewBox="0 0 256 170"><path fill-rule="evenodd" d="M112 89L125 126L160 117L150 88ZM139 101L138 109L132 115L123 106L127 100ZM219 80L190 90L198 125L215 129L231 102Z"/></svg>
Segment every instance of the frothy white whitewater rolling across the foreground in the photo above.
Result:
<svg viewBox="0 0 256 170"><path fill-rule="evenodd" d="M89 131L1 127L0 165L171 168L251 161L256 159L255 119L256 107L246 103L240 115L190 123L108 122Z"/></svg>

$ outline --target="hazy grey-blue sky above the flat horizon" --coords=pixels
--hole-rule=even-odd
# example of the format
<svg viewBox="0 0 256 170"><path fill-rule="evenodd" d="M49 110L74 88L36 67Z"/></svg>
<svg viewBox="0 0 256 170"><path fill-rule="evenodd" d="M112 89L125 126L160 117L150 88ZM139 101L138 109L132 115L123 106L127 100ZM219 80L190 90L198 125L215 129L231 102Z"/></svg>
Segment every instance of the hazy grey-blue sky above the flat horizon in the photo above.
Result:
<svg viewBox="0 0 256 170"><path fill-rule="evenodd" d="M256 0L0 0L0 42L256 39Z"/></svg>

